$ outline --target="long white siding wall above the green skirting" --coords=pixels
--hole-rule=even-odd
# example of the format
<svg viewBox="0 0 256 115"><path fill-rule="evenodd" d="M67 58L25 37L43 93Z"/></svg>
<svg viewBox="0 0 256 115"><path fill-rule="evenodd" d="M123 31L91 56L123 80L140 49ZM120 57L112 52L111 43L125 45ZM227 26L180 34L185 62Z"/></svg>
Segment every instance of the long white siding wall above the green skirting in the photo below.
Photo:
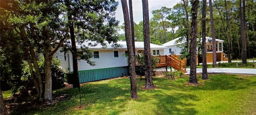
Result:
<svg viewBox="0 0 256 115"><path fill-rule="evenodd" d="M91 61L95 61L94 66L90 66L86 61L82 59L78 60L78 71L128 66L127 57L123 55L125 50L104 49L104 50L91 50L91 51L92 52L99 51L100 58L99 59L94 59L93 57L91 58ZM118 51L119 57L114 57L114 51ZM72 57L70 59L72 60ZM72 66L71 66L71 71L73 71Z"/></svg>

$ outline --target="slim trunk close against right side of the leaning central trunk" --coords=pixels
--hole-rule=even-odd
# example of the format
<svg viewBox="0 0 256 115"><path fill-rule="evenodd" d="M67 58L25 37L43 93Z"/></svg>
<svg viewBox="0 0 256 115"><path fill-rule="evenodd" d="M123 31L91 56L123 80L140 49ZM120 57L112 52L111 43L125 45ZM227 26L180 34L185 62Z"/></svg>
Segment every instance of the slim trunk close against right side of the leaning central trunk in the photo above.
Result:
<svg viewBox="0 0 256 115"><path fill-rule="evenodd" d="M135 56L135 35L134 35L134 21L132 12L132 0L129 0L129 13L130 13L130 24L131 24L131 36L132 36L132 48Z"/></svg>

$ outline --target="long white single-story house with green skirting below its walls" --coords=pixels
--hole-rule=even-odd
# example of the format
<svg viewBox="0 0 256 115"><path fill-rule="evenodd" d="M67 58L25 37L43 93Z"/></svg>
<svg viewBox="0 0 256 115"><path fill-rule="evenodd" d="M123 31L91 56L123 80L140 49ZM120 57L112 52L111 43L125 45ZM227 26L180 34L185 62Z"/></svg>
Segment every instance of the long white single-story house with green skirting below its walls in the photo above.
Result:
<svg viewBox="0 0 256 115"><path fill-rule="evenodd" d="M88 43L77 44L80 48L81 45L85 45L92 51L93 57L90 59L95 62L94 66L90 66L84 60L78 60L78 74L80 83L97 81L102 79L109 79L114 77L120 77L129 74L129 67L127 57L126 42L118 42L122 45L122 48L113 48L112 44L107 44L105 48L98 44L96 46L89 46ZM95 42L93 42L95 43ZM150 44L151 54L153 56L164 55L164 49L167 47L159 46L156 44ZM135 42L136 55L144 52L144 42ZM71 52L60 52L60 48L54 57L60 59L60 65L66 73L73 73L72 54Z"/></svg>

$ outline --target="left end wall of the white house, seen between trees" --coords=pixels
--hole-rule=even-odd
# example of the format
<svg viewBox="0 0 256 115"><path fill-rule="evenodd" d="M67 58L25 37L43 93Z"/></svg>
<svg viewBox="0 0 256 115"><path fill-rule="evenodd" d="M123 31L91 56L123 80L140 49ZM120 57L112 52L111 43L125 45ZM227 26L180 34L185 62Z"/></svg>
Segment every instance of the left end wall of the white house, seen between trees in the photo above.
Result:
<svg viewBox="0 0 256 115"><path fill-rule="evenodd" d="M69 57L68 56L71 56L68 52L66 53L66 60L65 60L65 57L64 57L64 52L60 52L62 48L59 48L54 54L53 54L53 57L54 58L57 58L60 59L60 68L62 68L65 73L68 73L68 59ZM71 59L69 61L72 61ZM70 63L71 64L71 63ZM71 66L71 65L70 65Z"/></svg>

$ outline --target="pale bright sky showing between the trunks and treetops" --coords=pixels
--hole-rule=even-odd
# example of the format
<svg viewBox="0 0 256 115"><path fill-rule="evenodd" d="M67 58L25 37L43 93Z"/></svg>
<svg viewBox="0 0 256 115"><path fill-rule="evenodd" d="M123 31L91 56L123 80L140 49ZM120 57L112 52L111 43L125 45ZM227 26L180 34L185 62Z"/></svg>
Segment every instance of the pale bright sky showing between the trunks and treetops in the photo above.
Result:
<svg viewBox="0 0 256 115"><path fill-rule="evenodd" d="M116 9L116 20L120 21L119 25L124 23L124 15L121 1L118 0L119 4ZM162 6L167 8L172 8L181 0L148 0L148 9L149 9L149 19L152 18L152 10L160 9ZM127 5L129 5L127 1ZM128 6L129 8L129 6ZM133 11L133 19L136 24L143 20L142 15L142 0L132 0L132 11Z"/></svg>

